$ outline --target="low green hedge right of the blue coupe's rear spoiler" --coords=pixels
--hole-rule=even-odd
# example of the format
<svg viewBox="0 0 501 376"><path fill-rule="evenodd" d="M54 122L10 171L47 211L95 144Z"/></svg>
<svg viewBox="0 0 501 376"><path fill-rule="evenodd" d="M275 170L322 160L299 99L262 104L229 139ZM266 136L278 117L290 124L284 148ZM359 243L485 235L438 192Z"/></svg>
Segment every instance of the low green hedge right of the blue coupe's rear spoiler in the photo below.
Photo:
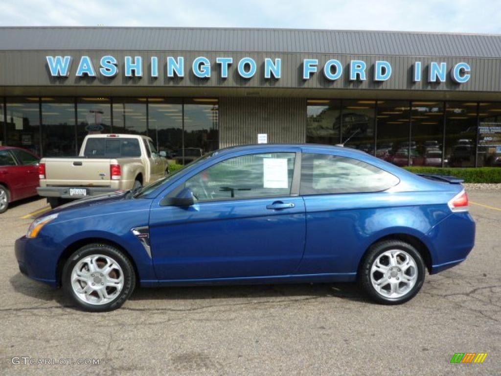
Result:
<svg viewBox="0 0 501 376"><path fill-rule="evenodd" d="M414 173L432 173L464 179L465 183L501 183L501 168L450 168L450 167L404 167Z"/></svg>

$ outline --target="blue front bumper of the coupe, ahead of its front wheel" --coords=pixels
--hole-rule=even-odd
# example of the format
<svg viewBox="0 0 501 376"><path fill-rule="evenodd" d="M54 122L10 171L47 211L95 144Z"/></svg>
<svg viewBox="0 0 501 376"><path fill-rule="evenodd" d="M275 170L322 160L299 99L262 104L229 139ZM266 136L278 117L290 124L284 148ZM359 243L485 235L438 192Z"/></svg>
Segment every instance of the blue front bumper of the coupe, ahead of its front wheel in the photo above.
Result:
<svg viewBox="0 0 501 376"><path fill-rule="evenodd" d="M15 253L21 273L36 281L57 286L57 258L51 256L51 252L54 251L47 249L41 238L28 239L23 236L16 240Z"/></svg>

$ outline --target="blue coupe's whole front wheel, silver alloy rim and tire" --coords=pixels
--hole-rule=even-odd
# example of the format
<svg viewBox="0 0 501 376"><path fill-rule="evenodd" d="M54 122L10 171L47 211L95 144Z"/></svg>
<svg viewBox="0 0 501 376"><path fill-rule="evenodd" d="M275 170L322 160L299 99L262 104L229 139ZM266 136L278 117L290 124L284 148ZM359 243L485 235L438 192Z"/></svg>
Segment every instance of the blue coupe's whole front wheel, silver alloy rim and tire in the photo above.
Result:
<svg viewBox="0 0 501 376"><path fill-rule="evenodd" d="M119 308L136 284L130 260L107 244L89 244L76 251L63 269L63 287L73 302L91 312Z"/></svg>

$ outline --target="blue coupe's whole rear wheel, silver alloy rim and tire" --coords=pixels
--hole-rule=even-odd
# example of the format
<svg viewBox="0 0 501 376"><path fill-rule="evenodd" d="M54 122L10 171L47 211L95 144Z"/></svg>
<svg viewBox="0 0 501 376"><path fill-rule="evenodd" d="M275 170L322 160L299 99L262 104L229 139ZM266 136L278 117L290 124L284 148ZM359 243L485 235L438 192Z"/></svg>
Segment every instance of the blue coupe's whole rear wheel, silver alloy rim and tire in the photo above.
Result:
<svg viewBox="0 0 501 376"><path fill-rule="evenodd" d="M401 304L419 292L424 273L423 258L412 245L389 240L370 248L362 261L359 280L374 301Z"/></svg>

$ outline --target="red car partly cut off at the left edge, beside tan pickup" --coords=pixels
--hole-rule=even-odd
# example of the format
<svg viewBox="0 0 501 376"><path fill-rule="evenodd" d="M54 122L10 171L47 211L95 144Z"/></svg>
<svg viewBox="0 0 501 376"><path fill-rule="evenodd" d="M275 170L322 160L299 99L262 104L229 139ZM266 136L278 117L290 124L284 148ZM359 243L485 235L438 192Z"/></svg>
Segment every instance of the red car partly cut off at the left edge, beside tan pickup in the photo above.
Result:
<svg viewBox="0 0 501 376"><path fill-rule="evenodd" d="M9 203L37 195L39 160L20 147L0 146L0 214Z"/></svg>

